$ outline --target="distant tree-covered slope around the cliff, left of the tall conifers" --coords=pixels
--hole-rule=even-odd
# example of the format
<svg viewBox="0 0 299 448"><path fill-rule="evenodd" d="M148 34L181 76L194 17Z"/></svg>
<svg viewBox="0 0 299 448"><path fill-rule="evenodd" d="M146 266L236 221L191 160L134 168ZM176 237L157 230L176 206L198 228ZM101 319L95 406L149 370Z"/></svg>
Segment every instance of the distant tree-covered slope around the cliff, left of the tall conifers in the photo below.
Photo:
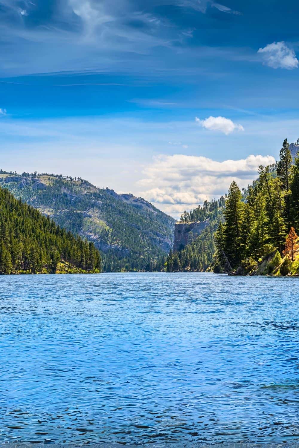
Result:
<svg viewBox="0 0 299 448"><path fill-rule="evenodd" d="M189 212L184 212L180 222L209 220L206 228L196 237L192 232L188 234L187 245L179 251L170 250L166 259L165 268L168 272L178 271L205 271L213 263L215 254L214 233L219 222L223 219L222 210L225 197L205 201Z"/></svg>

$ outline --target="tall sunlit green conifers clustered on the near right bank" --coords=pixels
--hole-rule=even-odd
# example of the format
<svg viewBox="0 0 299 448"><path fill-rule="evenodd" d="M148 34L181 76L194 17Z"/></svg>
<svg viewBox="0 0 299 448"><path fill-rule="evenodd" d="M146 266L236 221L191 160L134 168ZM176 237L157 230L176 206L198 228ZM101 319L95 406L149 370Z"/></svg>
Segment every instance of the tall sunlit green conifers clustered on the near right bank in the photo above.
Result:
<svg viewBox="0 0 299 448"><path fill-rule="evenodd" d="M260 166L259 178L246 194L231 183L223 213L225 222L215 235L221 266L232 272L239 267L237 273L246 273L277 252L269 273L282 255L287 255L288 270L286 265L294 260L294 234L299 231L299 154L292 165L286 139L275 169ZM288 234L292 243L286 240ZM292 248L291 257L286 247Z"/></svg>

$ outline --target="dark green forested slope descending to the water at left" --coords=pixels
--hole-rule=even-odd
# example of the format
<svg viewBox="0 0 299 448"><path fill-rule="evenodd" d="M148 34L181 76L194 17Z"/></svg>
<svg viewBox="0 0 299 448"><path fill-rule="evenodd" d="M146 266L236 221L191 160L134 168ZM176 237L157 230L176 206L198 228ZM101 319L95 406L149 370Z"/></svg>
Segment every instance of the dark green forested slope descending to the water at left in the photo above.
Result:
<svg viewBox="0 0 299 448"><path fill-rule="evenodd" d="M93 243L0 188L0 274L100 272Z"/></svg>

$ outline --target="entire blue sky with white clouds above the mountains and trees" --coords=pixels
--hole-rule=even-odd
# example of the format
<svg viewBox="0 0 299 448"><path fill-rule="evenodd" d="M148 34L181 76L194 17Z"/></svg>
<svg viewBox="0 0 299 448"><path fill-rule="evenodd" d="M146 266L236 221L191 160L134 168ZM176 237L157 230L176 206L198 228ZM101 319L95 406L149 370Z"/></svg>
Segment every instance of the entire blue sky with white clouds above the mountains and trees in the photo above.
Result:
<svg viewBox="0 0 299 448"><path fill-rule="evenodd" d="M0 0L0 167L178 215L299 137L295 1Z"/></svg>

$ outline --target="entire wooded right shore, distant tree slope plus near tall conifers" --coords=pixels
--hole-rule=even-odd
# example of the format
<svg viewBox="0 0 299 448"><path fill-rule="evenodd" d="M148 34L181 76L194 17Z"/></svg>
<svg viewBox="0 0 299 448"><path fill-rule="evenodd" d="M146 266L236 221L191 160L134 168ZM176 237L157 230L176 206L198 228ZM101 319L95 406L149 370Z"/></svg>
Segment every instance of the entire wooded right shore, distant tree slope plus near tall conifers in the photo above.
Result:
<svg viewBox="0 0 299 448"><path fill-rule="evenodd" d="M233 275L299 275L299 155L284 140L279 160L259 167L259 178L242 192L185 211L180 223L209 223L178 251L170 251L169 272L214 271ZM297 232L297 233L296 233Z"/></svg>

